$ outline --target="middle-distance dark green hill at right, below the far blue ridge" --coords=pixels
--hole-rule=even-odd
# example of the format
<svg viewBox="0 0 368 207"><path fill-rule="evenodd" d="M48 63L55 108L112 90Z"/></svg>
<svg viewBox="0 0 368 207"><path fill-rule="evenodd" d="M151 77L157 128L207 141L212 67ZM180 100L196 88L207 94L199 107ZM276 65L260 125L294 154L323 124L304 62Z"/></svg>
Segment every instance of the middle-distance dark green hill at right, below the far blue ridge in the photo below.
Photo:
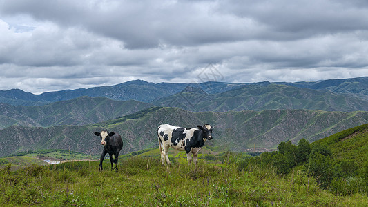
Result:
<svg viewBox="0 0 368 207"><path fill-rule="evenodd" d="M188 90L152 102L194 112L229 110L309 109L326 111L368 111L368 100L271 83L249 84L217 94Z"/></svg>

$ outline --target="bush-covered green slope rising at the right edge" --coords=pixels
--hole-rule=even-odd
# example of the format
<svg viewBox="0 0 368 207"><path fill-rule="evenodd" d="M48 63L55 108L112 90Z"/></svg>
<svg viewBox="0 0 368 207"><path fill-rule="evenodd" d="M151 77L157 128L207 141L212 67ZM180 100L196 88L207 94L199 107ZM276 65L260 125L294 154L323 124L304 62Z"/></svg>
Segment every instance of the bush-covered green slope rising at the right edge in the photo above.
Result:
<svg viewBox="0 0 368 207"><path fill-rule="evenodd" d="M321 188L336 195L368 193L368 124L343 130L309 144L281 142L278 151L240 161L239 168L273 166L279 175L301 170L314 177Z"/></svg>

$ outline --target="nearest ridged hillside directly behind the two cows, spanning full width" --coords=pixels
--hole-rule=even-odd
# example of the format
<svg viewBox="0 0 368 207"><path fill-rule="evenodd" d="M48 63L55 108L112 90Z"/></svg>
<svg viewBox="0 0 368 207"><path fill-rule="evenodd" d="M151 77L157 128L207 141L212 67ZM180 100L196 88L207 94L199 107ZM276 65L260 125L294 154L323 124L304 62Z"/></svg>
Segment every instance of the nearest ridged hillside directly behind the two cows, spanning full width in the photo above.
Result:
<svg viewBox="0 0 368 207"><path fill-rule="evenodd" d="M224 146L235 151L276 148L281 141L304 138L316 141L336 132L368 123L368 112L323 112L318 110L264 110L240 112L188 112L179 108L148 108L117 119L86 126L30 128L10 126L0 130L0 156L25 150L65 149L99 155L101 146L93 132L119 132L122 153L155 148L157 126L173 124L187 128L198 124L214 127L206 146Z"/></svg>

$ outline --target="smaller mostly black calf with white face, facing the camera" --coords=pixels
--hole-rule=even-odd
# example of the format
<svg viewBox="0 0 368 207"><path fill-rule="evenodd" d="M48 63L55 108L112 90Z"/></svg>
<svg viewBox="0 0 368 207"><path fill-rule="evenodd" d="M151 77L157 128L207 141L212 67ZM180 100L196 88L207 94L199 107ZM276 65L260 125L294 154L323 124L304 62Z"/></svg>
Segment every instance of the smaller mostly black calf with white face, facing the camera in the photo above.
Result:
<svg viewBox="0 0 368 207"><path fill-rule="evenodd" d="M99 161L99 171L102 171L102 162L105 159L105 155L108 153L110 156L111 162L111 170L113 170L113 164L115 164L114 169L117 172L117 159L119 157L120 150L123 148L123 140L122 137L118 133L115 132L95 132L96 136L99 136L101 139L101 145L104 146L104 150L102 151L102 155Z"/></svg>

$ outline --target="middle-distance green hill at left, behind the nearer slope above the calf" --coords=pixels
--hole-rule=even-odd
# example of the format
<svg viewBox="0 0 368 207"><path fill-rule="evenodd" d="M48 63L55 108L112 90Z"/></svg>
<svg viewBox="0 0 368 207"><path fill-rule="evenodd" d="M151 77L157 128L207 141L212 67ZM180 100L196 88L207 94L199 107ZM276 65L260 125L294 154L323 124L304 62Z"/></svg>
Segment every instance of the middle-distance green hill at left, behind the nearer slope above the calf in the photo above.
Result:
<svg viewBox="0 0 368 207"><path fill-rule="evenodd" d="M114 101L104 97L79 97L44 106L10 106L0 103L0 129L12 125L59 126L94 124L153 106L139 101Z"/></svg>

